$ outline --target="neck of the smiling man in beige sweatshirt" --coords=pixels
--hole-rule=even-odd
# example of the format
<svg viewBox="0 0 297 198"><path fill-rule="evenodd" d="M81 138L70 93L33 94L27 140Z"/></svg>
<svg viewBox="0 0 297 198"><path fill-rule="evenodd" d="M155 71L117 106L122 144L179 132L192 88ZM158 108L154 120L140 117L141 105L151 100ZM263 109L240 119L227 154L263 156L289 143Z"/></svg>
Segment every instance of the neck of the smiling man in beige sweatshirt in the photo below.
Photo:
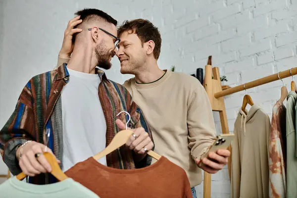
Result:
<svg viewBox="0 0 297 198"><path fill-rule="evenodd" d="M156 63L145 68L146 69L142 70L138 74L135 74L135 80L137 83L152 83L161 78L165 73L165 71L161 70Z"/></svg>

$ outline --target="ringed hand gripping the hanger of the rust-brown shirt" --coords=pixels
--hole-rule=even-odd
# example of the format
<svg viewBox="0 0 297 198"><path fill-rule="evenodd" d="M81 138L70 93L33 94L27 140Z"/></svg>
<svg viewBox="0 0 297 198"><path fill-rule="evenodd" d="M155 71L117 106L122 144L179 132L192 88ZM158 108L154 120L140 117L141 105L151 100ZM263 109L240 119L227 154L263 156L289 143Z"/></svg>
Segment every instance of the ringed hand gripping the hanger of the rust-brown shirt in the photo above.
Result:
<svg viewBox="0 0 297 198"><path fill-rule="evenodd" d="M125 124L120 119L117 119L115 123L120 130L126 129ZM126 143L126 146L131 150L134 150L138 154L145 154L153 148L153 142L144 128L131 129L127 127L127 129L134 132Z"/></svg>

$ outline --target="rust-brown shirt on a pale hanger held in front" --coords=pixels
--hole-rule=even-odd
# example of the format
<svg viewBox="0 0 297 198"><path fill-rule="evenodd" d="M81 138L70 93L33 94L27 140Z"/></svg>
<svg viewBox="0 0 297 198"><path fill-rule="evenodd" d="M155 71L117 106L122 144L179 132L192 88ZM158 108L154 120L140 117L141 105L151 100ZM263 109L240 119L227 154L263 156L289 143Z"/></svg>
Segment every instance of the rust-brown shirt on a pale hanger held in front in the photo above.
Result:
<svg viewBox="0 0 297 198"><path fill-rule="evenodd" d="M163 156L130 170L107 167L90 157L65 174L101 198L193 198L184 169Z"/></svg>

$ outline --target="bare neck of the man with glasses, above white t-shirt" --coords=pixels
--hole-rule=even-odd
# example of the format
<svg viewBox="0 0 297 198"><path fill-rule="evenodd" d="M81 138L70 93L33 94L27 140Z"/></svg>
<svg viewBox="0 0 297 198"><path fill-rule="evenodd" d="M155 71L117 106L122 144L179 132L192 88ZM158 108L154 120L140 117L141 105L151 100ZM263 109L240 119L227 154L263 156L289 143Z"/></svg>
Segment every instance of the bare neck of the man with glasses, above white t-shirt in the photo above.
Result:
<svg viewBox="0 0 297 198"><path fill-rule="evenodd" d="M93 50L91 48L75 46L67 68L79 72L95 74L96 64L92 61L92 52Z"/></svg>

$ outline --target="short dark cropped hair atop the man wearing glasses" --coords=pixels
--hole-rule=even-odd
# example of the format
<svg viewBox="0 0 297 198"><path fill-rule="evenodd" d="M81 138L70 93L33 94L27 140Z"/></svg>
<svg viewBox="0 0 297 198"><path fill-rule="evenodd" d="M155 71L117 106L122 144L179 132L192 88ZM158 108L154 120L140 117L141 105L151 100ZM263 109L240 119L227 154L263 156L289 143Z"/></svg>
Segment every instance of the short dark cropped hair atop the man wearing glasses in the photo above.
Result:
<svg viewBox="0 0 297 198"><path fill-rule="evenodd" d="M105 19L108 23L112 23L113 25L117 26L117 21L114 18L99 9L84 8L75 12L75 15L80 15L80 19L82 19L83 22L94 19L94 16L99 16L100 18Z"/></svg>

